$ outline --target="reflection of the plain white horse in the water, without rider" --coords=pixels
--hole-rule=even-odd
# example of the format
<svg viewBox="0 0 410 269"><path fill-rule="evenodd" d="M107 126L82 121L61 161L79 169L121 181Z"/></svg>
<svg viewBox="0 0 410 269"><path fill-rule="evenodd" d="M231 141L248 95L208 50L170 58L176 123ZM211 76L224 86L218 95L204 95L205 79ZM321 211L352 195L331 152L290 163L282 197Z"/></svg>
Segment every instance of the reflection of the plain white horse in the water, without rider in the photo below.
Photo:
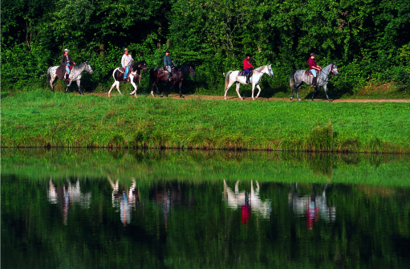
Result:
<svg viewBox="0 0 410 269"><path fill-rule="evenodd" d="M263 218L269 218L272 207L271 201L262 201L259 198L259 183L256 181L256 190L253 188L253 181L251 180L251 193L242 191L239 192L239 181L235 183L235 192L228 187L228 184L223 180L223 194L224 200L231 209L238 209L245 206L250 206L252 211L257 212ZM242 209L243 210L243 209Z"/></svg>

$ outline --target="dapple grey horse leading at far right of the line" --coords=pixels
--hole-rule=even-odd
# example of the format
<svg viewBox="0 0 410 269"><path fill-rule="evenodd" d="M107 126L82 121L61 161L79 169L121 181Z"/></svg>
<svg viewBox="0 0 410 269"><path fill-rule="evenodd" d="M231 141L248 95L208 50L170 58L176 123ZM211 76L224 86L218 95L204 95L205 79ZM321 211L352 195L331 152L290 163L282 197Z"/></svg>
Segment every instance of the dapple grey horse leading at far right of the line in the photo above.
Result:
<svg viewBox="0 0 410 269"><path fill-rule="evenodd" d="M329 74L333 73L335 76L339 75L339 73L337 72L337 65L335 62L333 62L332 64L322 68L322 70L320 70L317 80L316 80L316 87L315 87L315 91L312 94L312 101L313 101L313 96L315 96L315 93L317 91L317 89L319 87L323 87L324 89L324 93L326 94L326 98L328 101L333 102L331 99L329 99L329 96L327 96L327 82L329 82ZM291 101L293 100L293 96L295 95L295 85L296 85L296 94L298 97L298 101L300 101L301 99L299 98L299 89L300 86L302 86L303 82L305 84L309 84L312 85L312 80L313 80L313 76L308 76L305 75L305 70L297 70L297 71L293 71L291 73L291 77L289 79L289 84L291 86L292 89L292 97L291 97ZM296 82L296 83L295 83Z"/></svg>

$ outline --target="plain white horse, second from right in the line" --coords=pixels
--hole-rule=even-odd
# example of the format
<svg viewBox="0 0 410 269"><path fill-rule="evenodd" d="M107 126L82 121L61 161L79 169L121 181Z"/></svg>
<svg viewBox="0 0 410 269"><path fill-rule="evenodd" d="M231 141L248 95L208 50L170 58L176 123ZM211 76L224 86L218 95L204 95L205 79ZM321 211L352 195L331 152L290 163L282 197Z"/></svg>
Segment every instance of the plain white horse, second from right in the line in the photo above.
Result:
<svg viewBox="0 0 410 269"><path fill-rule="evenodd" d="M225 96L223 98L224 100L228 100L227 99L228 89L234 83L236 83L236 93L238 94L239 99L243 100L243 98L239 94L239 86L240 84L247 84L246 82L247 77L246 77L245 72L243 73L241 72L241 74L239 72L241 71L228 71L225 77ZM259 97L259 93L260 93L259 83L260 83L260 78L262 77L263 74L268 74L270 77L273 77L272 65L261 66L261 67L258 67L252 70L252 76L249 78L249 81L252 84L252 100L255 100ZM255 86L256 88L259 89L259 92L256 95L256 97L254 97Z"/></svg>

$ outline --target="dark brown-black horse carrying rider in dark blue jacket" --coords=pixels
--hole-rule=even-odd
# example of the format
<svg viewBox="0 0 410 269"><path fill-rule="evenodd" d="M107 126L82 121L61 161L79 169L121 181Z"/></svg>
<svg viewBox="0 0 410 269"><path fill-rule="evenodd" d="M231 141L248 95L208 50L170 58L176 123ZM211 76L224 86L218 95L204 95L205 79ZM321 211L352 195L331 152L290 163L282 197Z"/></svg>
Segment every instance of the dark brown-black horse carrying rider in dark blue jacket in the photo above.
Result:
<svg viewBox="0 0 410 269"><path fill-rule="evenodd" d="M159 81L168 82L168 73L162 72L160 67L152 68L150 70L150 79L152 82L151 96L154 96L154 87L157 89L158 97L161 97L161 93L158 90ZM193 64L185 64L181 66L176 66L172 70L171 74L171 88L168 92L165 93L165 96L168 97L168 94L174 88L175 84L179 85L179 97L184 98L181 94L182 81L186 74L191 74L192 77L196 76L195 66Z"/></svg>

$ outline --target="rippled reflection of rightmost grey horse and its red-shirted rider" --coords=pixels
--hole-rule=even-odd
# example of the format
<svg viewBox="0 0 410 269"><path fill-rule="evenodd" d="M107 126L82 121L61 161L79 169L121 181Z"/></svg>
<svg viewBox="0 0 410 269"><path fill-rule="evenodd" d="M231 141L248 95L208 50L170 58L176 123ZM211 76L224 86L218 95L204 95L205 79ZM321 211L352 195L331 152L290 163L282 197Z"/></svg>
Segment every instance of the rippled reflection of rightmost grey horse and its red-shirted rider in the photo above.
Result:
<svg viewBox="0 0 410 269"><path fill-rule="evenodd" d="M297 216L306 216L306 222L310 230L313 229L313 223L319 218L327 222L334 222L336 218L336 208L328 206L326 201L326 187L320 195L311 193L309 195L300 195L298 192L298 183L296 189L289 192L289 208Z"/></svg>

